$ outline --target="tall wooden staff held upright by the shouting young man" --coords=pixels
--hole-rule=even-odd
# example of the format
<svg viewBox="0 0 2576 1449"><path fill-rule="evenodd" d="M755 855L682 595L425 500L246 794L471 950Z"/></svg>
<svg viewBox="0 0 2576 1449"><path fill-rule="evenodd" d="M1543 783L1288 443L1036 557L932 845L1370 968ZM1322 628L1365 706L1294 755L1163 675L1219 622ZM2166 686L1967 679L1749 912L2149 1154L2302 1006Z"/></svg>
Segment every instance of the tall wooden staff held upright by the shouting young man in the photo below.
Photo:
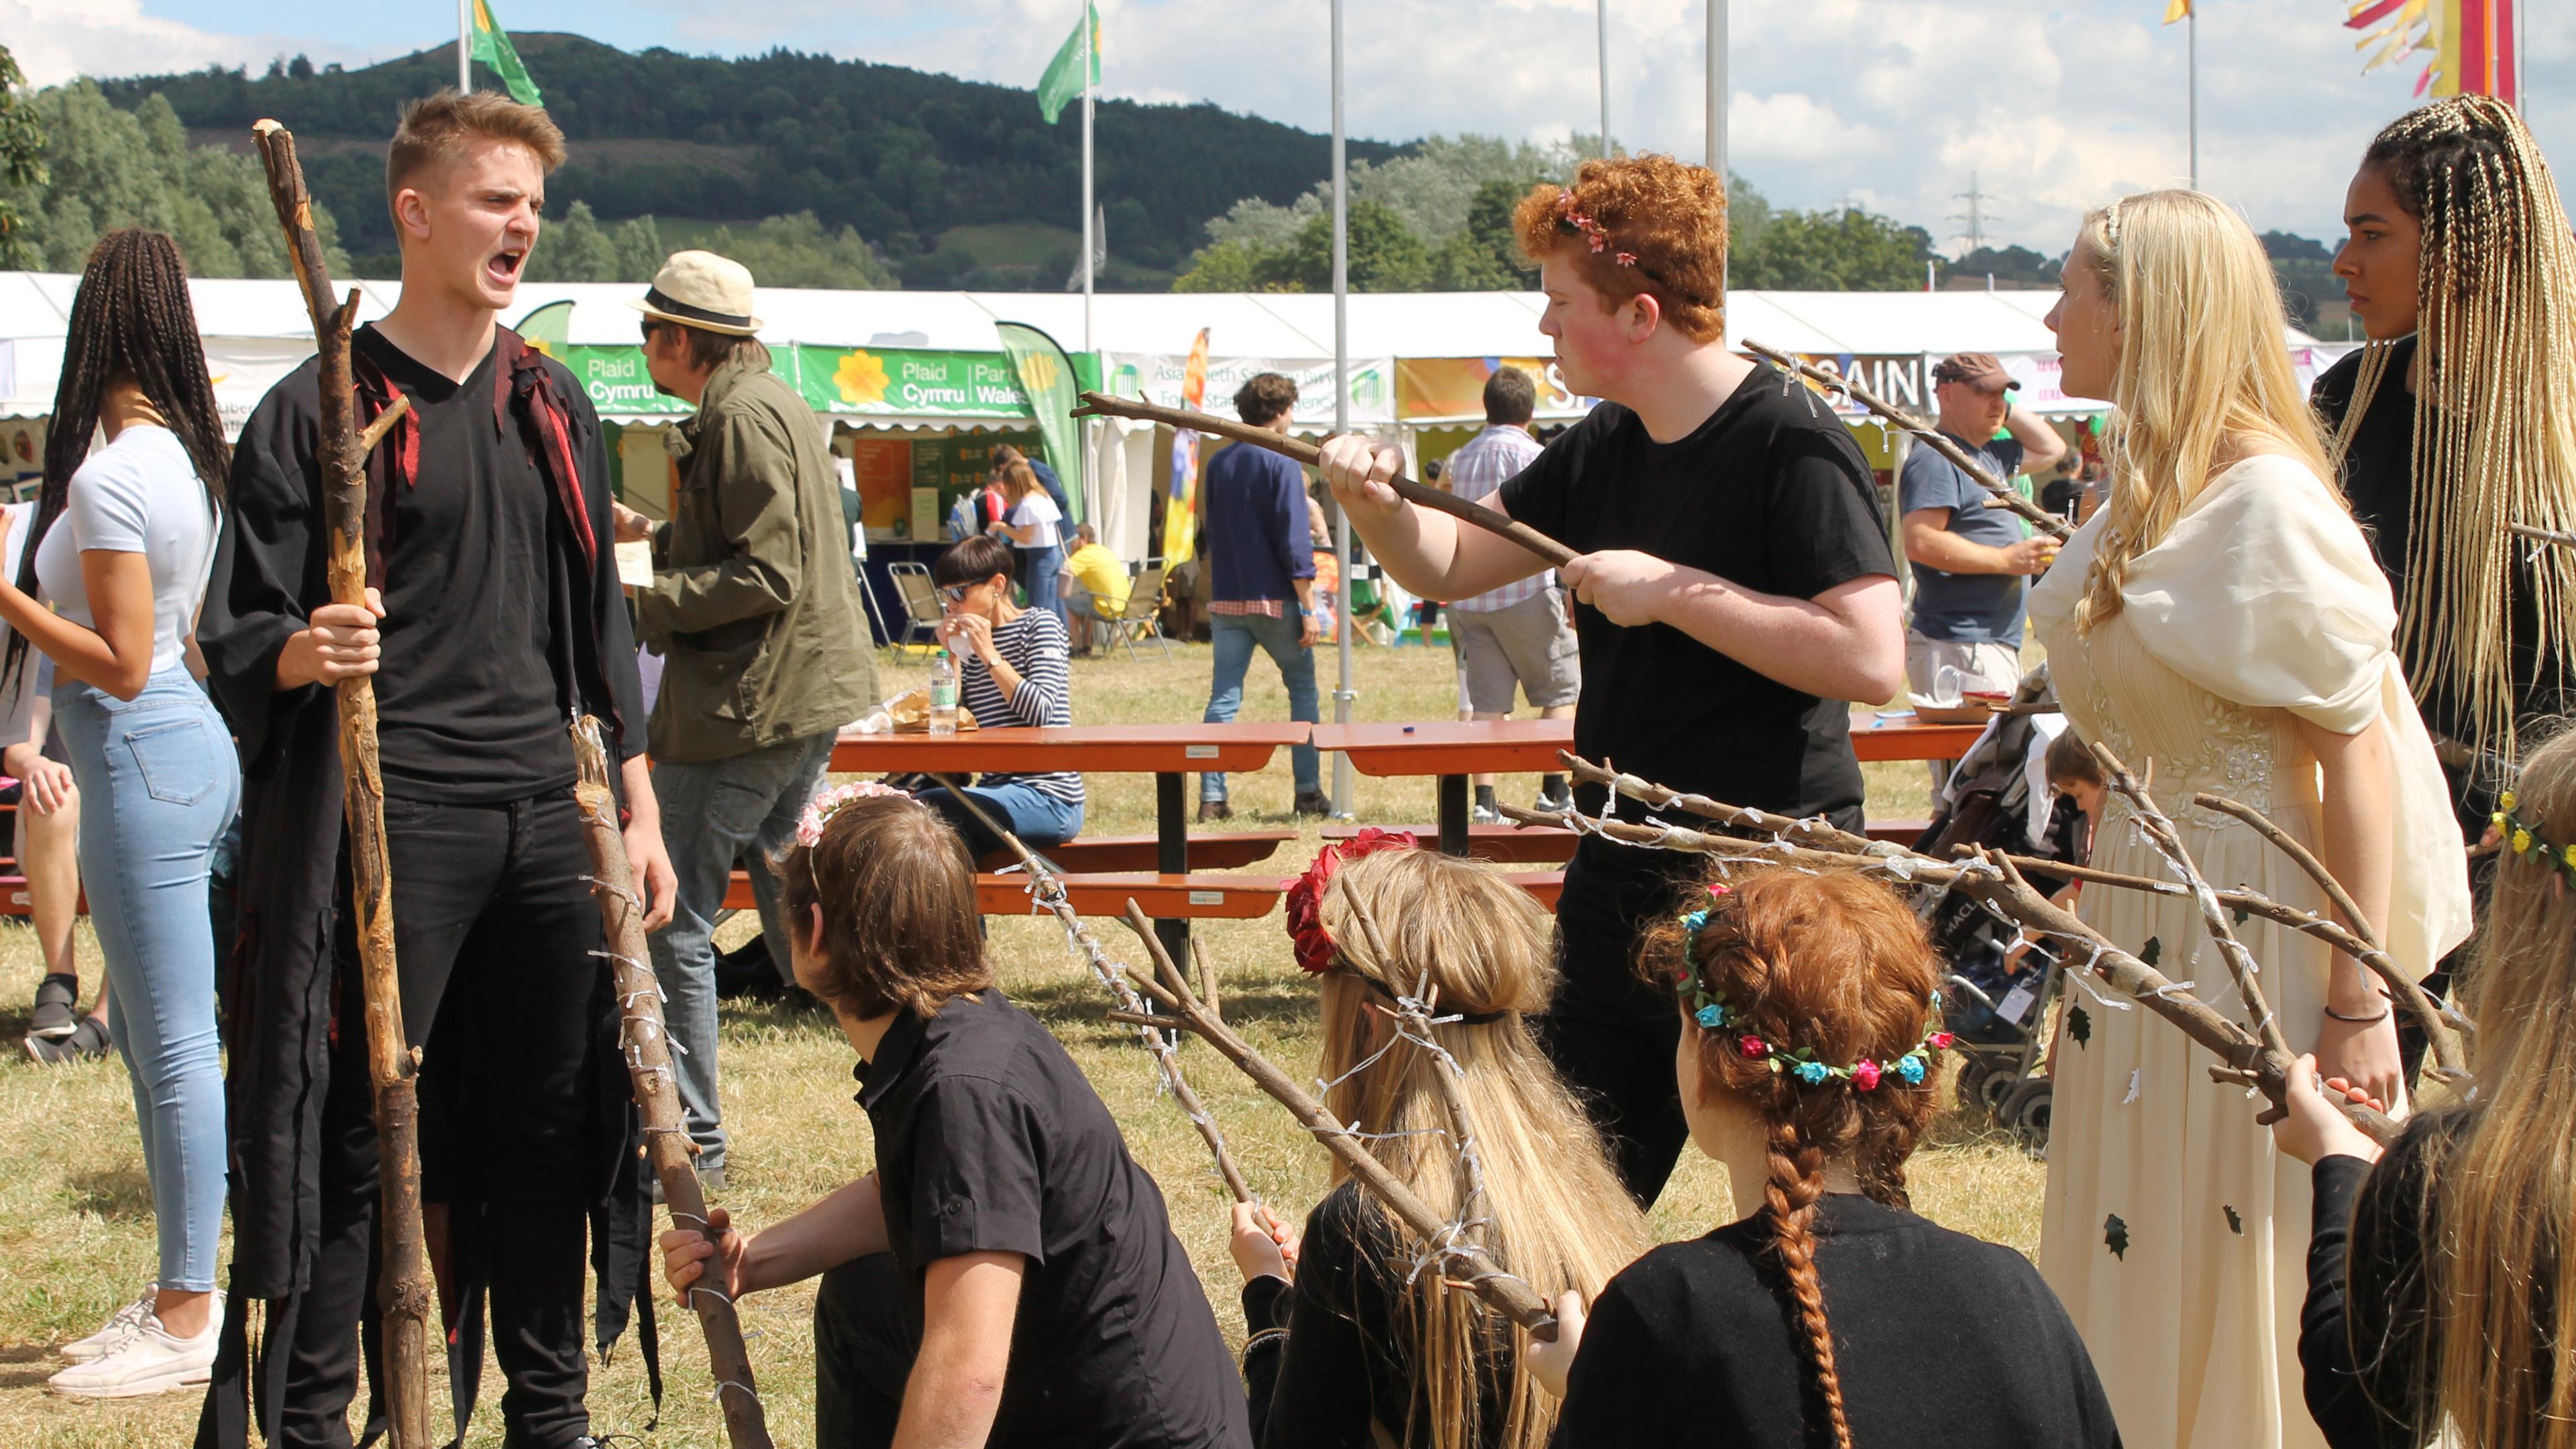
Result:
<svg viewBox="0 0 2576 1449"><path fill-rule="evenodd" d="M358 431L348 333L358 320L358 291L332 297L322 237L314 235L312 196L296 165L296 139L276 121L250 129L268 168L268 199L286 227L286 260L304 286L314 343L322 351L322 521L330 534L330 601L366 606L366 454L402 418L394 400ZM422 1266L420 1227L420 1052L402 1034L402 975L394 969L394 882L384 856L384 779L376 768L376 683L368 676L335 686L340 699L340 786L348 802L350 908L358 913L358 969L366 987L366 1067L376 1088L376 1145L381 1152L384 1279L376 1310L384 1318L386 1439L394 1449L430 1449L430 1279Z"/></svg>

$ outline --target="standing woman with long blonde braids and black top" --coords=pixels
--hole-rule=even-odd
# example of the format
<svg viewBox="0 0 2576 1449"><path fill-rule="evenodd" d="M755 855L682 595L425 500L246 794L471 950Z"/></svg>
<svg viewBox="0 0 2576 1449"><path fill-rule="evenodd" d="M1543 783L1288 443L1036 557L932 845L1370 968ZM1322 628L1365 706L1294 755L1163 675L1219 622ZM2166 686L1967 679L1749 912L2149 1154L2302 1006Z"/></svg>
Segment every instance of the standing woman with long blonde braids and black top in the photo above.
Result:
<svg viewBox="0 0 2576 1449"><path fill-rule="evenodd" d="M2370 345L2316 382L2352 513L2398 598L2424 724L2512 761L2568 706L2576 549L2576 237L2512 106L2434 101L2388 124L2344 193L2334 258ZM2455 755L2458 758L2458 755ZM2455 768L2468 835L2496 779Z"/></svg>

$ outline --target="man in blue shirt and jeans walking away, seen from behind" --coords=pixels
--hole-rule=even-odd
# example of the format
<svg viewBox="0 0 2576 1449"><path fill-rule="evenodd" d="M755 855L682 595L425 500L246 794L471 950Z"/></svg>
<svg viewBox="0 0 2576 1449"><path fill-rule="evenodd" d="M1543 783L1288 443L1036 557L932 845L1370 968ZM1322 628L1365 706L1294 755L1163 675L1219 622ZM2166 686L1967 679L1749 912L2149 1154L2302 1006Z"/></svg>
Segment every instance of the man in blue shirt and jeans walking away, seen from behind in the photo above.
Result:
<svg viewBox="0 0 2576 1449"><path fill-rule="evenodd" d="M1265 371L1234 392L1234 410L1255 428L1288 431L1296 382ZM1208 462L1200 485L1198 552L1208 570L1208 637L1216 678L1208 683L1208 724L1226 724L1244 701L1244 670L1255 645L1280 668L1288 717L1314 722L1314 544L1306 531L1306 474L1270 449L1234 443ZM1296 771L1296 812L1332 815L1314 745L1288 750ZM1198 817L1226 820L1226 776L1198 776Z"/></svg>

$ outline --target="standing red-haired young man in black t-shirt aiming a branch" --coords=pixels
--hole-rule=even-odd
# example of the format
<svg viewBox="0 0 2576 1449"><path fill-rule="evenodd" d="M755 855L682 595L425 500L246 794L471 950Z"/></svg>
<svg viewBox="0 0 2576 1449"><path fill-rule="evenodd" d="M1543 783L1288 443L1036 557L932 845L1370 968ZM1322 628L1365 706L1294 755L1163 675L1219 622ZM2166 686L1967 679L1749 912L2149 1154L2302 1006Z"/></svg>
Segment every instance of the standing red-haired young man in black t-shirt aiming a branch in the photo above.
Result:
<svg viewBox="0 0 2576 1449"><path fill-rule="evenodd" d="M1602 405L1484 503L1577 549L1574 748L1620 771L1862 828L1844 701L1904 683L1896 559L1868 462L1821 405L1726 351L1726 191L1641 155L1540 186L1515 229L1548 297L1566 389ZM1414 508L1394 443L1334 438L1321 474L1368 552L1425 598L1530 578L1538 554ZM1602 789L1577 802L1600 812ZM1672 998L1636 980L1636 931L1677 910L1672 861L1587 838L1556 908L1548 1052L1595 1101L1638 1201L1690 1134Z"/></svg>

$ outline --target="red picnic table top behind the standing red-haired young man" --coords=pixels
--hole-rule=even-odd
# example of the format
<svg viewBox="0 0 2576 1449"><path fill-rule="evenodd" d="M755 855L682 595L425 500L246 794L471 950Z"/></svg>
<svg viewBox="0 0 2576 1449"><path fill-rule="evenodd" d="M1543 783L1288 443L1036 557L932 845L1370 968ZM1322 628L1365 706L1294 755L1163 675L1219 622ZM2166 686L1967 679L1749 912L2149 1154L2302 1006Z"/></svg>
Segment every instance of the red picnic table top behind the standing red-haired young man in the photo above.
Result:
<svg viewBox="0 0 2576 1449"><path fill-rule="evenodd" d="M1852 753L1875 761L1955 761L1984 724L1922 724L1911 717L1878 719L1852 712ZM1316 750L1350 755L1365 776L1440 779L1440 851L1466 856L1468 776L1543 773L1556 753L1574 748L1571 719L1432 719L1422 724L1316 724Z"/></svg>

